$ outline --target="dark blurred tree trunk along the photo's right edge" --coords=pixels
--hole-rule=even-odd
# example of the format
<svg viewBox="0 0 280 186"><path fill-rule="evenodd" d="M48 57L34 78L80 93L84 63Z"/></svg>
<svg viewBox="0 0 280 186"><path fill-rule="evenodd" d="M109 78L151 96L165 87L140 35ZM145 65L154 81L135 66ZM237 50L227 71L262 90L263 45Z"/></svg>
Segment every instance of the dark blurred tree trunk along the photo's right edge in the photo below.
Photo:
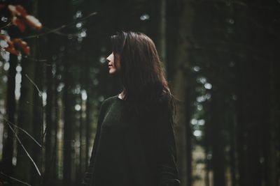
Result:
<svg viewBox="0 0 280 186"><path fill-rule="evenodd" d="M274 1L267 1L267 4L270 8L275 7ZM259 6L262 6L262 2L258 2ZM264 10L262 10L264 11ZM260 13L258 10L254 10L254 15L260 20L261 28L269 28L269 32L275 32L276 29L279 30L279 24L277 27L274 27L272 24L272 20L275 17L274 11L270 11L267 13L265 11L265 15ZM267 17L269 17L267 19ZM267 21L269 20L269 21ZM266 37L262 37L262 36ZM279 134L279 115L277 118L277 111L279 114L279 102L277 105L277 97L279 97L279 92L277 93L277 83L279 85L279 69L280 65L279 62L279 37L274 34L267 34L264 33L262 29L258 31L257 38L259 38L260 42L258 42L258 48L262 49L262 52L265 55L258 54L260 56L261 61L259 70L256 73L256 77L259 78L258 80L258 87L260 96L260 119L258 120L260 123L260 130L262 132L262 152L260 157L260 162L262 163L262 180L263 183L267 186L272 185L279 185L280 184L280 175L277 175L277 159L278 159L278 166L279 164L279 151L278 151L278 158L277 158L277 139L276 134ZM278 40L276 40L278 38ZM272 42L274 41L274 42ZM265 46L265 47L264 47ZM278 57L278 58L277 58ZM278 74L278 77L277 77ZM278 86L279 91L279 86ZM278 96L277 96L278 95ZM277 108L278 107L278 108ZM277 110L278 109L278 110ZM278 130L277 130L278 125ZM278 140L279 141L279 140ZM279 142L278 142L279 143ZM279 145L278 145L279 147ZM279 149L278 149L279 150ZM279 172L278 172L279 173ZM278 180L277 180L278 179Z"/></svg>

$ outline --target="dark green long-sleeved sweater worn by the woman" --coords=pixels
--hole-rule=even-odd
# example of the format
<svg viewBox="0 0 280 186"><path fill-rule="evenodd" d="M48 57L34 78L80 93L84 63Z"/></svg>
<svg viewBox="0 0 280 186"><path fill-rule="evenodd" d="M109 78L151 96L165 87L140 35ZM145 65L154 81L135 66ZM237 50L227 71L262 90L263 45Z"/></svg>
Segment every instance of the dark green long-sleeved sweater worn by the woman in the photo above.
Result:
<svg viewBox="0 0 280 186"><path fill-rule="evenodd" d="M150 116L120 117L125 100L102 102L84 185L179 185L173 120L162 102Z"/></svg>

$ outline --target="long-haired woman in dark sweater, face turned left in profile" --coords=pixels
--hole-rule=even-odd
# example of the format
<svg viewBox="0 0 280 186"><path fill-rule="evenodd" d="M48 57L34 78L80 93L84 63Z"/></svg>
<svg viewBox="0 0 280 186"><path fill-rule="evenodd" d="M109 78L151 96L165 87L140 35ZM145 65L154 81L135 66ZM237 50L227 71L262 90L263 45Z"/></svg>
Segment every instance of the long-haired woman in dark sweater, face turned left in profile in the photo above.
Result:
<svg viewBox="0 0 280 186"><path fill-rule="evenodd" d="M111 36L109 73L122 93L102 102L84 185L180 185L176 166L174 100L151 38L144 33Z"/></svg>

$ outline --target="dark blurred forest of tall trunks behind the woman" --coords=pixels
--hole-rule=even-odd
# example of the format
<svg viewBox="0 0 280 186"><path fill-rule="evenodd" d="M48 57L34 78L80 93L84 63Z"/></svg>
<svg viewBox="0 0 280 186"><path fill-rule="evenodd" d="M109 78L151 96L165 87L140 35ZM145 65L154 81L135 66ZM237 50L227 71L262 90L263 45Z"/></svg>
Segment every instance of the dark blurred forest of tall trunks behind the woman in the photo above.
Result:
<svg viewBox="0 0 280 186"><path fill-rule="evenodd" d="M100 104L120 93L106 64L120 30L146 33L165 63L181 186L280 185L280 1L0 4L43 25L20 32L1 9L1 34L31 53L0 39L0 185L80 185Z"/></svg>

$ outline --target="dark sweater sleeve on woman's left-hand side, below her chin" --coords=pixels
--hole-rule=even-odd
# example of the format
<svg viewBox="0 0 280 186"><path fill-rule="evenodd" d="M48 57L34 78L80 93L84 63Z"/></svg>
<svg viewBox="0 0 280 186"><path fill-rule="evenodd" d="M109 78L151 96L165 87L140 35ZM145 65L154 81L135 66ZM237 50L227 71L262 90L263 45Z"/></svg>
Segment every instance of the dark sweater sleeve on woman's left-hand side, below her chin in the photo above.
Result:
<svg viewBox="0 0 280 186"><path fill-rule="evenodd" d="M104 119L104 112L105 112L104 111L104 102L102 102L102 105L101 105L100 111L99 111L98 120L97 120L97 132L94 137L92 154L90 156L90 164L87 166L87 171L85 171L85 176L83 178L83 183L82 183L83 186L90 185L90 179L92 178L92 169L93 169L93 164L94 164L95 155L96 155L96 151L97 151L97 145L98 145L98 141L99 141L101 125L102 125L102 121Z"/></svg>

